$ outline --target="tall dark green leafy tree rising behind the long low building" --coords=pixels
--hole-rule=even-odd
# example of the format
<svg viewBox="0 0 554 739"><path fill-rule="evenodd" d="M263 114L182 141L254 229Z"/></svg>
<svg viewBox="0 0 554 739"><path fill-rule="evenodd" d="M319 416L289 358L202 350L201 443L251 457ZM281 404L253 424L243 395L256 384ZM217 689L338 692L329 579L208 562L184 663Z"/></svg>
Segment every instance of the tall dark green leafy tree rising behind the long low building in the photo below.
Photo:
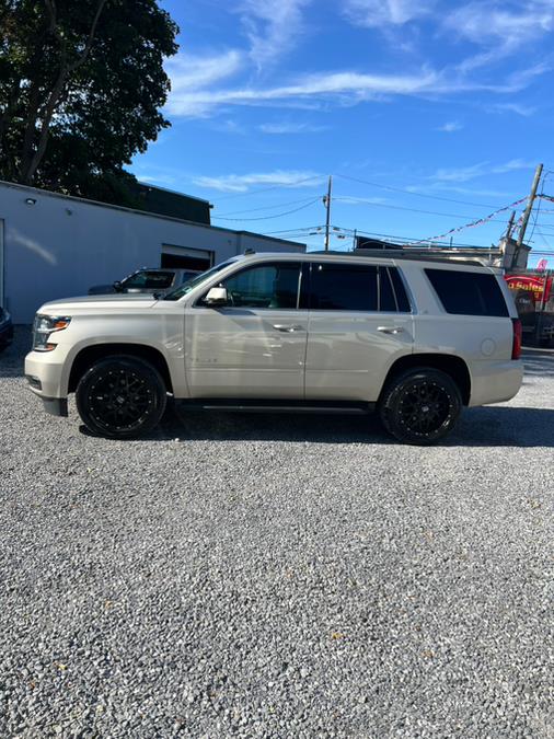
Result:
<svg viewBox="0 0 554 739"><path fill-rule="evenodd" d="M129 205L177 31L157 0L0 0L0 177Z"/></svg>

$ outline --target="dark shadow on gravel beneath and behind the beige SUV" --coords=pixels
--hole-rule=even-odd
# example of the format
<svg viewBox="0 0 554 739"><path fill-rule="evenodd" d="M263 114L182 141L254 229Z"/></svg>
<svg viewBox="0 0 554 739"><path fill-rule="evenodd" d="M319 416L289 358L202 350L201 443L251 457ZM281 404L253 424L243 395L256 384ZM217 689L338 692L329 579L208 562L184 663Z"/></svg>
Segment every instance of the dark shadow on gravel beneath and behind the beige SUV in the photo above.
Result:
<svg viewBox="0 0 554 739"><path fill-rule="evenodd" d="M213 413L177 403L149 440L399 443L377 415ZM458 428L435 447L554 447L554 409L485 406L463 412Z"/></svg>

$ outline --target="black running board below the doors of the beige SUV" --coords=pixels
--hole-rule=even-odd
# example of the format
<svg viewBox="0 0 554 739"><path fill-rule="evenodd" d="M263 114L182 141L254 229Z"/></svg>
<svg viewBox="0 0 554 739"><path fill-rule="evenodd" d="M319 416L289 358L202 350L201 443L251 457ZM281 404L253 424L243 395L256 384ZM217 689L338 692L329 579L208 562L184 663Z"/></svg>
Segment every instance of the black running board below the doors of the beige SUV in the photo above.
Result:
<svg viewBox="0 0 554 739"><path fill-rule="evenodd" d="M284 401L262 402L239 400L186 400L180 401L184 405L203 411L230 411L232 413L332 413L367 415L374 411L374 403L355 403L338 401Z"/></svg>

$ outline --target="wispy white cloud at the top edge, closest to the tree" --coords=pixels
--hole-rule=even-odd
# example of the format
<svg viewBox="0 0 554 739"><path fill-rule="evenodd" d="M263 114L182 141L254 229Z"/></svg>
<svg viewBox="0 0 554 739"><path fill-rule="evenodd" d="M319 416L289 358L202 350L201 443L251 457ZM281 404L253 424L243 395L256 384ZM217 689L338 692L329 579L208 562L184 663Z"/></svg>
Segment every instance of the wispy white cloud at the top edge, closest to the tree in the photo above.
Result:
<svg viewBox="0 0 554 739"><path fill-rule="evenodd" d="M250 57L261 70L287 53L304 31L302 10L311 0L244 0L242 22Z"/></svg>

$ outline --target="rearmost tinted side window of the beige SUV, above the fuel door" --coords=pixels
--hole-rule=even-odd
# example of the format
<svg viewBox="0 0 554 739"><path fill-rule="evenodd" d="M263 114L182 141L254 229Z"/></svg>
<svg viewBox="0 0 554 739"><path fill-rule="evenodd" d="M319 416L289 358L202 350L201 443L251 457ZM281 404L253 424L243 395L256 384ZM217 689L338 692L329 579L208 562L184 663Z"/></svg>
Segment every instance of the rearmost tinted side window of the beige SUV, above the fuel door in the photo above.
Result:
<svg viewBox="0 0 554 739"><path fill-rule="evenodd" d="M503 291L494 275L450 269L426 269L447 313L508 316Z"/></svg>

